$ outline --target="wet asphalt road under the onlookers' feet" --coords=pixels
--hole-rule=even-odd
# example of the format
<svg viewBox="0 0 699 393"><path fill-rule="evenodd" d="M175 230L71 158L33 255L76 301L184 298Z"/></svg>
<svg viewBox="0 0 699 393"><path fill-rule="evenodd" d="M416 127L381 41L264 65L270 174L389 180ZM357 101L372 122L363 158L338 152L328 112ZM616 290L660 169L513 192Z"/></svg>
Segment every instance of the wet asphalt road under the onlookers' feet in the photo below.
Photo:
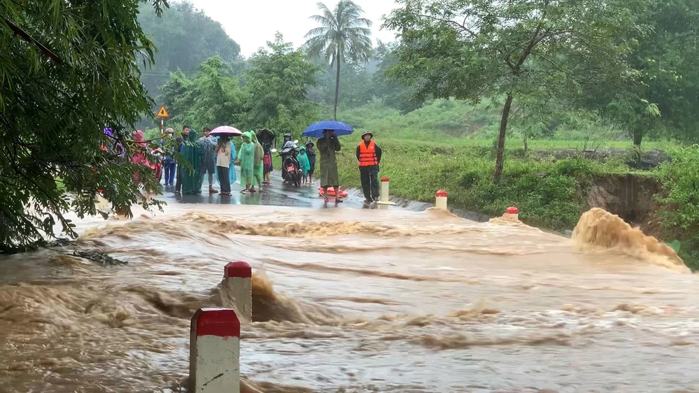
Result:
<svg viewBox="0 0 699 393"><path fill-rule="evenodd" d="M261 192L252 192L250 194L241 194L240 190L244 187L240 186L240 169L238 171L238 180L231 185L231 197L225 197L220 194L209 194L208 178L204 178L204 183L201 187L200 195L182 195L175 194L175 186L168 185L163 187L163 195L158 199L171 203L212 203L212 204L233 204L233 205L270 205L270 206L296 206L303 208L396 208L395 206L385 206L372 204L366 206L363 204L361 195L354 195L349 192L349 195L342 203L335 203L335 199L331 198L328 203L319 196L318 187L319 180L314 179L314 185L302 185L294 187L293 185L282 184L282 172L273 171L271 174L271 185L263 185ZM215 190L220 191L220 187L215 183Z"/></svg>

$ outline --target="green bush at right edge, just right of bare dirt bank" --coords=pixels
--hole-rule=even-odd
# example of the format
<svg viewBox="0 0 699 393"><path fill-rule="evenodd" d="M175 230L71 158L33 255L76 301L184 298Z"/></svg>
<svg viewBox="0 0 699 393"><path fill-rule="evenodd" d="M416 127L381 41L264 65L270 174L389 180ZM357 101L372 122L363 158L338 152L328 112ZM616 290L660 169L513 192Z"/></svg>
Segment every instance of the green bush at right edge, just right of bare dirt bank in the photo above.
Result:
<svg viewBox="0 0 699 393"><path fill-rule="evenodd" d="M682 257L699 269L699 146L679 148L658 169L663 184L659 212L668 238L682 242Z"/></svg>

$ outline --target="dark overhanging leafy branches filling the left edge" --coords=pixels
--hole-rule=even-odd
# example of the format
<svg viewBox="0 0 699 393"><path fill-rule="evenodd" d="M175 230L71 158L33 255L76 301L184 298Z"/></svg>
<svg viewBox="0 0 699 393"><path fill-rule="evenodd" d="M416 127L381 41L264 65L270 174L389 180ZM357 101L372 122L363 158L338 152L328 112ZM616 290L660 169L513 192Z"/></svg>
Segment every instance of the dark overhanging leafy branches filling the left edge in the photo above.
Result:
<svg viewBox="0 0 699 393"><path fill-rule="evenodd" d="M164 5L151 1L157 13ZM139 190L134 173L145 192L160 185L129 161L139 145L122 127L153 104L136 62L154 48L137 16L137 1L0 3L0 252L41 243L55 224L74 235L66 213L96 214L98 190L129 214L132 203L159 205ZM126 157L100 148L117 142Z"/></svg>

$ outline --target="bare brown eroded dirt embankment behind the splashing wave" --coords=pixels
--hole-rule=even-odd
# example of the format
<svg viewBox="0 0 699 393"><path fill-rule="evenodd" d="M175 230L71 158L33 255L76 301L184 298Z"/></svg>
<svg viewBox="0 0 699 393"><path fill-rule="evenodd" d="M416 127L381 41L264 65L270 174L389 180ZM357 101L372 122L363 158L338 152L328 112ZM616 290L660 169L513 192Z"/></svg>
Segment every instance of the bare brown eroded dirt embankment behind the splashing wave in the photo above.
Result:
<svg viewBox="0 0 699 393"><path fill-rule="evenodd" d="M661 184L653 176L610 174L595 180L587 193L587 202L590 208L603 208L640 227L645 234L658 237L661 227L654 213L660 203L654 196L661 192Z"/></svg>

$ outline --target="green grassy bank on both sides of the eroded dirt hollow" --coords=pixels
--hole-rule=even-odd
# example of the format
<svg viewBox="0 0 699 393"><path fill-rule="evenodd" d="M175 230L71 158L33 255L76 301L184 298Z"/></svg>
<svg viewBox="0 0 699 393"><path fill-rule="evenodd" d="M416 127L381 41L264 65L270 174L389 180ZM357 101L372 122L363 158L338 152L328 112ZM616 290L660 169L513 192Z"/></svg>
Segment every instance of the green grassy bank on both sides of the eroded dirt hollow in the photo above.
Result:
<svg viewBox="0 0 699 393"><path fill-rule="evenodd" d="M572 229L589 208L587 194L596 178L631 173L621 161L584 158L536 162L507 159L498 185L491 181L493 159L488 150L474 150L458 140L419 142L375 138L384 150L380 176L391 179L391 195L434 202L437 190L449 192L449 206L487 215L502 215L508 206L520 209L520 219L534 227ZM360 187L354 143L343 138L340 181ZM628 145L627 145L628 146ZM692 269L699 269L699 147L674 148L672 159L654 171L662 192L655 195L661 222L654 236L672 243Z"/></svg>

